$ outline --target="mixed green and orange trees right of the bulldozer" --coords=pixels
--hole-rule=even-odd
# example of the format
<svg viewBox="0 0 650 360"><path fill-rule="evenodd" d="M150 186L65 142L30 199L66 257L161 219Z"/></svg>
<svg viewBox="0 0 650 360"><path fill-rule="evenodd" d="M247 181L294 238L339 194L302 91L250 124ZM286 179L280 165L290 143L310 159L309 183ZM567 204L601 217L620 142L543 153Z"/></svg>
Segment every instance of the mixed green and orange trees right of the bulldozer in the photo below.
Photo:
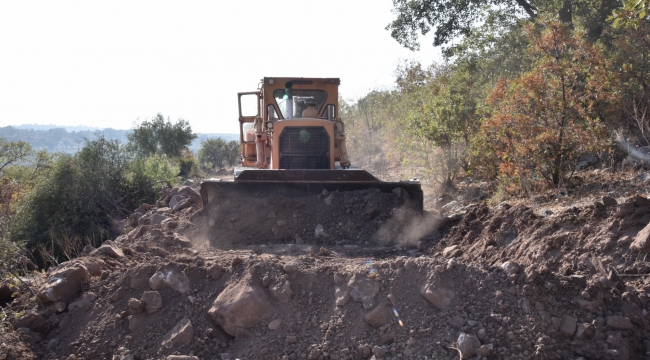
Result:
<svg viewBox="0 0 650 360"><path fill-rule="evenodd" d="M394 0L393 38L433 32L444 60L343 102L352 158L500 199L566 189L585 157L620 169L622 148L650 145L648 3Z"/></svg>

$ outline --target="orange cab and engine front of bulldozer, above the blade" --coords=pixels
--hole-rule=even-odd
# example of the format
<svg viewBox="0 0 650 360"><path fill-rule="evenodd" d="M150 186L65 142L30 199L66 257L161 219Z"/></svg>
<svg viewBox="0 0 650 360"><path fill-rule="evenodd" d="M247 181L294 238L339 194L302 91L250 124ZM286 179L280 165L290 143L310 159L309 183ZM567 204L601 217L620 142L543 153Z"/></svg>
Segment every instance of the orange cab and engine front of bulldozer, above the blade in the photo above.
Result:
<svg viewBox="0 0 650 360"><path fill-rule="evenodd" d="M350 166L337 117L337 78L273 78L239 99L242 167L336 169Z"/></svg>

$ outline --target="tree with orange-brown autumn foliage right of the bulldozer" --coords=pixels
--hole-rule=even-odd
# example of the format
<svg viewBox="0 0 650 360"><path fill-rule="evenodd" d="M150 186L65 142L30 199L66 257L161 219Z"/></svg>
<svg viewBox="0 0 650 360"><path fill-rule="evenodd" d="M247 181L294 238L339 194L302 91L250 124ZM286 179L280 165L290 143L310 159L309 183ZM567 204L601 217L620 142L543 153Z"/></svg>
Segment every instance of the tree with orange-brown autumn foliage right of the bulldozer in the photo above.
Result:
<svg viewBox="0 0 650 360"><path fill-rule="evenodd" d="M602 146L603 106L616 100L615 91L599 49L581 34L558 22L542 34L528 31L538 60L532 71L497 84L479 137L496 149L502 174L537 173L559 186L578 156Z"/></svg>

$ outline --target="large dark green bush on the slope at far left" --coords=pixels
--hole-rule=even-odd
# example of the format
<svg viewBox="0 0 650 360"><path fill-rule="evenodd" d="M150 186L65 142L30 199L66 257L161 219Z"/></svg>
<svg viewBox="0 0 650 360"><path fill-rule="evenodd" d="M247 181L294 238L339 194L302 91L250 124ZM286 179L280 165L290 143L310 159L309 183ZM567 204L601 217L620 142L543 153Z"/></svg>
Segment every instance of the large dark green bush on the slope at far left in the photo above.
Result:
<svg viewBox="0 0 650 360"><path fill-rule="evenodd" d="M117 235L114 219L155 202L177 171L163 155L134 159L117 141L87 141L74 156L60 156L20 199L8 238L26 241L32 251L46 245L55 257L66 252L60 239L97 245Z"/></svg>

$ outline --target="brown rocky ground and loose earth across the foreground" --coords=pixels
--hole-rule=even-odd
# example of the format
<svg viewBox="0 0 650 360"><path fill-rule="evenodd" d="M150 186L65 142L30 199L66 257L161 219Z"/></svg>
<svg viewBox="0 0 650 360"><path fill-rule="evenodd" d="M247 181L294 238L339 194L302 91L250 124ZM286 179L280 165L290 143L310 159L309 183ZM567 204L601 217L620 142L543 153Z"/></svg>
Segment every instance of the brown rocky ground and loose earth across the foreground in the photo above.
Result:
<svg viewBox="0 0 650 360"><path fill-rule="evenodd" d="M202 209L174 189L34 294L5 280L0 359L645 359L644 186L425 213L399 191Z"/></svg>

